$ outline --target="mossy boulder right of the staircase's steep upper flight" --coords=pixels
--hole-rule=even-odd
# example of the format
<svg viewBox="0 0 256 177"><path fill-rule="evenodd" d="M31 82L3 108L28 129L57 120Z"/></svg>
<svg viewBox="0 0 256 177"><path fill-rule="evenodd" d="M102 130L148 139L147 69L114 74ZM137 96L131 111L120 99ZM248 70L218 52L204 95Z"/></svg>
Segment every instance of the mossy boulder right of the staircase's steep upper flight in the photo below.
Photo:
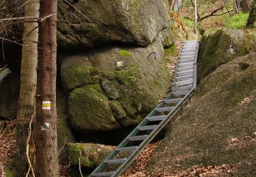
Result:
<svg viewBox="0 0 256 177"><path fill-rule="evenodd" d="M199 81L220 65L256 51L256 30L212 29L204 33L199 56Z"/></svg>

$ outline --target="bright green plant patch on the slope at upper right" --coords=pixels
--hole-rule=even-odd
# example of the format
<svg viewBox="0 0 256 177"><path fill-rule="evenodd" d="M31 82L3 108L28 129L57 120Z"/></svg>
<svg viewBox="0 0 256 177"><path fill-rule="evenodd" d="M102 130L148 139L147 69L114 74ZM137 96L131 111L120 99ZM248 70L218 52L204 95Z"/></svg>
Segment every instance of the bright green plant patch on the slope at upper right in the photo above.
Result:
<svg viewBox="0 0 256 177"><path fill-rule="evenodd" d="M227 21L225 22L225 27L229 29L244 29L247 19L248 14L240 12L240 14L236 14L235 16L227 18Z"/></svg>

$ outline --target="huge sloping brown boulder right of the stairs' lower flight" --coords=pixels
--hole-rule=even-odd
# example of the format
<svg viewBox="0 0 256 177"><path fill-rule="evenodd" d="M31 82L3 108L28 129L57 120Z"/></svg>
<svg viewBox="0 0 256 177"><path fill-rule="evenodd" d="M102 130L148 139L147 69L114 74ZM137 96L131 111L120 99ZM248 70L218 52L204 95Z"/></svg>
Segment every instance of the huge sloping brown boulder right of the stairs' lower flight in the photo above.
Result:
<svg viewBox="0 0 256 177"><path fill-rule="evenodd" d="M255 76L256 53L236 57L206 76L182 115L169 125L147 167L149 176L223 164L229 168L218 176L255 176Z"/></svg>

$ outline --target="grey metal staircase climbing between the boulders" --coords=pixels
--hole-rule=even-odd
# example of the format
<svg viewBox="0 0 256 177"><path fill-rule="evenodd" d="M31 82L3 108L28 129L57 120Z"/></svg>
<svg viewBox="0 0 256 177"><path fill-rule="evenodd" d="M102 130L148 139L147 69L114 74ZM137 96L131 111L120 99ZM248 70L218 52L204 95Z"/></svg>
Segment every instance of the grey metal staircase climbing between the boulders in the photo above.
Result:
<svg viewBox="0 0 256 177"><path fill-rule="evenodd" d="M171 92L89 176L121 175L139 155L139 152L180 111L184 103L192 97L197 87L198 52L199 42L186 41L182 43Z"/></svg>

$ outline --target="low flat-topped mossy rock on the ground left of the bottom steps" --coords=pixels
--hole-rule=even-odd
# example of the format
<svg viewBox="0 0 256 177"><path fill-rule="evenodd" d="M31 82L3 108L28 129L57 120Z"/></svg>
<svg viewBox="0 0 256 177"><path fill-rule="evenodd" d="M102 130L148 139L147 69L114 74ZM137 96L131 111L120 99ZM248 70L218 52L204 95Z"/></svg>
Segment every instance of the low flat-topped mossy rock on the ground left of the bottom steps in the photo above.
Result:
<svg viewBox="0 0 256 177"><path fill-rule="evenodd" d="M79 165L80 159L81 166L96 167L114 148L114 146L106 146L102 144L69 143L67 148L68 160L71 165Z"/></svg>

